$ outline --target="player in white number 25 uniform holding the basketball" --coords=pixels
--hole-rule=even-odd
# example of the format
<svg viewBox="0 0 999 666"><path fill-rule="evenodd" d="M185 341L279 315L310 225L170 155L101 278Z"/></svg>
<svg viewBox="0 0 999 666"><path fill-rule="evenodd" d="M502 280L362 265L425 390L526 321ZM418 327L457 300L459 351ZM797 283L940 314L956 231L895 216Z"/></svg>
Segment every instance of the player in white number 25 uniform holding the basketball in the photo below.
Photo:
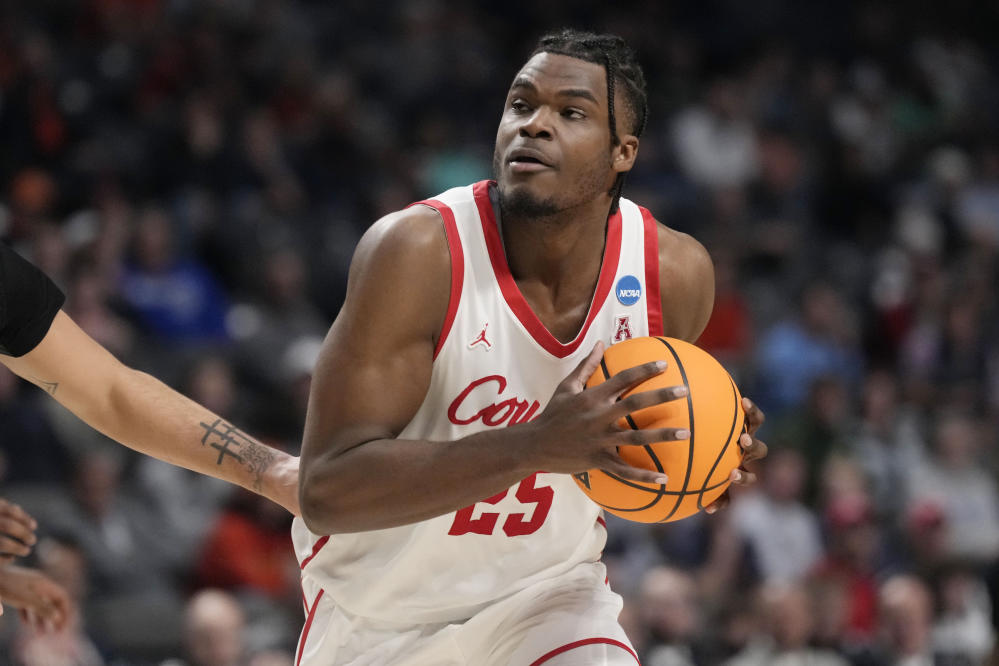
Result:
<svg viewBox="0 0 999 666"><path fill-rule="evenodd" d="M617 448L689 437L615 425L685 395L618 400L661 365L583 390L604 345L693 341L711 314L704 248L620 198L646 115L621 39L547 36L507 95L496 181L361 240L306 418L299 664L637 662L600 563L604 521L569 475L664 483ZM763 417L747 405L752 432Z"/></svg>

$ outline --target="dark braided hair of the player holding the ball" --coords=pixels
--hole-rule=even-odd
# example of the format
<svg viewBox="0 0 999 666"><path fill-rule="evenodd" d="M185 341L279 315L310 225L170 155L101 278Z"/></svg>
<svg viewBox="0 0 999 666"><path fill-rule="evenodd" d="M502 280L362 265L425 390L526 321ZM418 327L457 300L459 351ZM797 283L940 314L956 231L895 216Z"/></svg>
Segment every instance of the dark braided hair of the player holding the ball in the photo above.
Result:
<svg viewBox="0 0 999 666"><path fill-rule="evenodd" d="M614 114L614 94L621 85L624 90L625 107L628 110L631 133L640 137L645 130L649 108L645 92L645 74L638 64L635 52L623 39L617 35L582 32L572 28L563 28L541 37L531 53L531 57L539 53L553 53L569 56L586 62L603 65L607 72L607 118L610 123L611 145L617 146L621 138L617 133L617 118ZM611 187L614 198L611 204L611 214L618 208L621 191L624 189L626 173L617 175Z"/></svg>

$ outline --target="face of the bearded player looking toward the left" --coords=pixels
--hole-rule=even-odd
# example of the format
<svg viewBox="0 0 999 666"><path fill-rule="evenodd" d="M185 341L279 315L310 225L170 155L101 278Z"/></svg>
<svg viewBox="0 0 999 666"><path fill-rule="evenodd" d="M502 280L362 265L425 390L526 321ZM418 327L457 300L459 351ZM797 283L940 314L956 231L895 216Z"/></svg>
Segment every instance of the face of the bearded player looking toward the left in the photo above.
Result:
<svg viewBox="0 0 999 666"><path fill-rule="evenodd" d="M620 119L623 105L615 110ZM618 134L625 134L620 120ZM608 196L617 173L631 168L637 145L633 136L611 144L602 65L539 53L510 86L496 133L501 200L521 212L554 214Z"/></svg>

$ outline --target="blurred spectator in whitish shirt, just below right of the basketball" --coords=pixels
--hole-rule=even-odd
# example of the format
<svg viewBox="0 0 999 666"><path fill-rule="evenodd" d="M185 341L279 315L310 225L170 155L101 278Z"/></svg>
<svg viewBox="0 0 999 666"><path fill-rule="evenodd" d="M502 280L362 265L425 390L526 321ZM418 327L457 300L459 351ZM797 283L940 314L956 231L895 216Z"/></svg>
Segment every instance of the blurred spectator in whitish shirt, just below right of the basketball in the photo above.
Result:
<svg viewBox="0 0 999 666"><path fill-rule="evenodd" d="M732 521L764 581L802 579L822 557L818 519L802 503L805 461L794 449L771 451L760 489L739 495Z"/></svg>

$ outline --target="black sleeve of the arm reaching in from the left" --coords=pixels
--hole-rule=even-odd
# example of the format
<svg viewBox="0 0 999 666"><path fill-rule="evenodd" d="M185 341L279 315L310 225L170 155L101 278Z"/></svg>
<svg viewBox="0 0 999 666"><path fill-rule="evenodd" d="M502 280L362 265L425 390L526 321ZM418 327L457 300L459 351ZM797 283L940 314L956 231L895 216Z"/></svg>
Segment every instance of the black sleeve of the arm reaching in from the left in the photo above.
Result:
<svg viewBox="0 0 999 666"><path fill-rule="evenodd" d="M65 300L45 273L0 243L0 354L34 349Z"/></svg>

